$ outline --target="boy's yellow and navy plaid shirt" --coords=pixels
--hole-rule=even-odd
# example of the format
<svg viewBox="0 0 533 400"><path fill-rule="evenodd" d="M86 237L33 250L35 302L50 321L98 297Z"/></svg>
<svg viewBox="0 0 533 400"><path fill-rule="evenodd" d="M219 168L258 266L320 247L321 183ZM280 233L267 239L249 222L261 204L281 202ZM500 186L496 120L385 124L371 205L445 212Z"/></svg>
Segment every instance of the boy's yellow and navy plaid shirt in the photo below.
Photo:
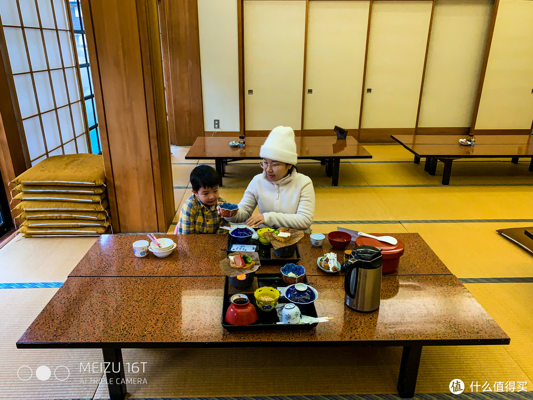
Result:
<svg viewBox="0 0 533 400"><path fill-rule="evenodd" d="M222 197L219 202L225 203ZM189 197L180 211L178 234L223 234L227 230L221 226L228 226L228 222L216 212L217 204L211 207L199 201L198 197Z"/></svg>

